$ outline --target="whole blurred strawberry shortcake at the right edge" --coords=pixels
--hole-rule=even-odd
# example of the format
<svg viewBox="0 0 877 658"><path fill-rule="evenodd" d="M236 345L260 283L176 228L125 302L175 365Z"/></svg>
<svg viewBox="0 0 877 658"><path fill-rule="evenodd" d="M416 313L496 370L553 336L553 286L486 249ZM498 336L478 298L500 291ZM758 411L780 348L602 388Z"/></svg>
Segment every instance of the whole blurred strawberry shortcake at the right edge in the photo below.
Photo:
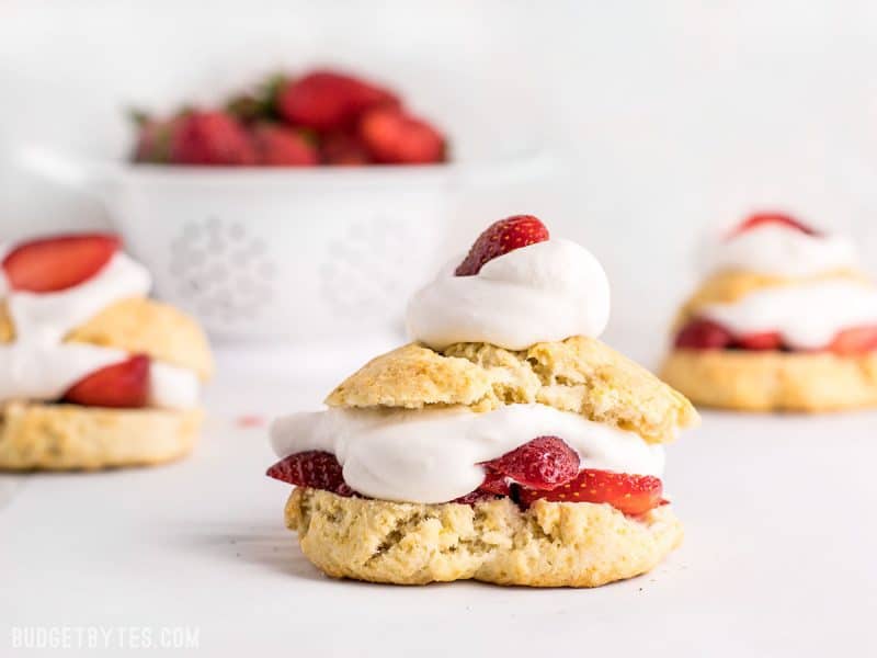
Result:
<svg viewBox="0 0 877 658"><path fill-rule="evenodd" d="M877 405L877 288L851 241L758 214L707 253L662 376L694 402L825 411Z"/></svg>

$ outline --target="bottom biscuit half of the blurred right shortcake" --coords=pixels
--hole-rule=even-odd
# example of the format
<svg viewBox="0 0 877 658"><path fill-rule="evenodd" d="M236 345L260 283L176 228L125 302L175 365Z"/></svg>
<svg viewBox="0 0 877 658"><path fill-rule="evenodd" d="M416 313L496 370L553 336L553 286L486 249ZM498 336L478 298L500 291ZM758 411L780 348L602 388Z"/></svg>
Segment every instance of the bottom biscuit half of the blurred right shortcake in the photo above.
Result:
<svg viewBox="0 0 877 658"><path fill-rule="evenodd" d="M705 407L819 412L877 406L877 352L674 350L661 378Z"/></svg>

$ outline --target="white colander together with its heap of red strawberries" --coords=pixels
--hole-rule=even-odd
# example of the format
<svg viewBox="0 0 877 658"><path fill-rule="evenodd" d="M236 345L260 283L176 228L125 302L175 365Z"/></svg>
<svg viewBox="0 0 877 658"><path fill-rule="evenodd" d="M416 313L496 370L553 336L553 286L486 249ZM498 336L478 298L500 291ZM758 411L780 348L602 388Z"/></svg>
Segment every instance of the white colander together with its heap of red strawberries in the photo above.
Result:
<svg viewBox="0 0 877 658"><path fill-rule="evenodd" d="M158 295L220 339L399 329L446 253L460 188L497 171L456 160L397 92L333 70L135 120L128 160L83 164L82 184ZM75 169L49 164L56 179Z"/></svg>

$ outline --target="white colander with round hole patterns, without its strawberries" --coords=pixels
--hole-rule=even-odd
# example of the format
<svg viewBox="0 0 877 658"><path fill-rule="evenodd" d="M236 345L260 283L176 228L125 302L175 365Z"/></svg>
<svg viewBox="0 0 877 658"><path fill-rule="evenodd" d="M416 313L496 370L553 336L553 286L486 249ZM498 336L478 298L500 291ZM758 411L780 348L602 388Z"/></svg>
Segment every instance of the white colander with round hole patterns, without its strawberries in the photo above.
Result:
<svg viewBox="0 0 877 658"><path fill-rule="evenodd" d="M544 166L536 154L356 169L95 164L46 149L26 160L99 194L158 296L213 337L296 342L400 330L406 300L447 256L457 193Z"/></svg>

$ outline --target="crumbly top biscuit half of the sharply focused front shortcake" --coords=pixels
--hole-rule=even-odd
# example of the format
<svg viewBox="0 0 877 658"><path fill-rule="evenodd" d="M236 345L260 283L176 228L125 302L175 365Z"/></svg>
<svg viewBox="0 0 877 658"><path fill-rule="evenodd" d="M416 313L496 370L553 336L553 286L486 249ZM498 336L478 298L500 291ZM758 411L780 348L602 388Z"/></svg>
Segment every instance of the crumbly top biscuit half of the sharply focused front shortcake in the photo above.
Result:
<svg viewBox="0 0 877 658"><path fill-rule="evenodd" d="M676 428L697 421L684 396L585 337L522 351L458 343L437 352L409 344L368 362L326 400L330 407L464 405L475 411L531 402L582 413L652 443L672 440Z"/></svg>

